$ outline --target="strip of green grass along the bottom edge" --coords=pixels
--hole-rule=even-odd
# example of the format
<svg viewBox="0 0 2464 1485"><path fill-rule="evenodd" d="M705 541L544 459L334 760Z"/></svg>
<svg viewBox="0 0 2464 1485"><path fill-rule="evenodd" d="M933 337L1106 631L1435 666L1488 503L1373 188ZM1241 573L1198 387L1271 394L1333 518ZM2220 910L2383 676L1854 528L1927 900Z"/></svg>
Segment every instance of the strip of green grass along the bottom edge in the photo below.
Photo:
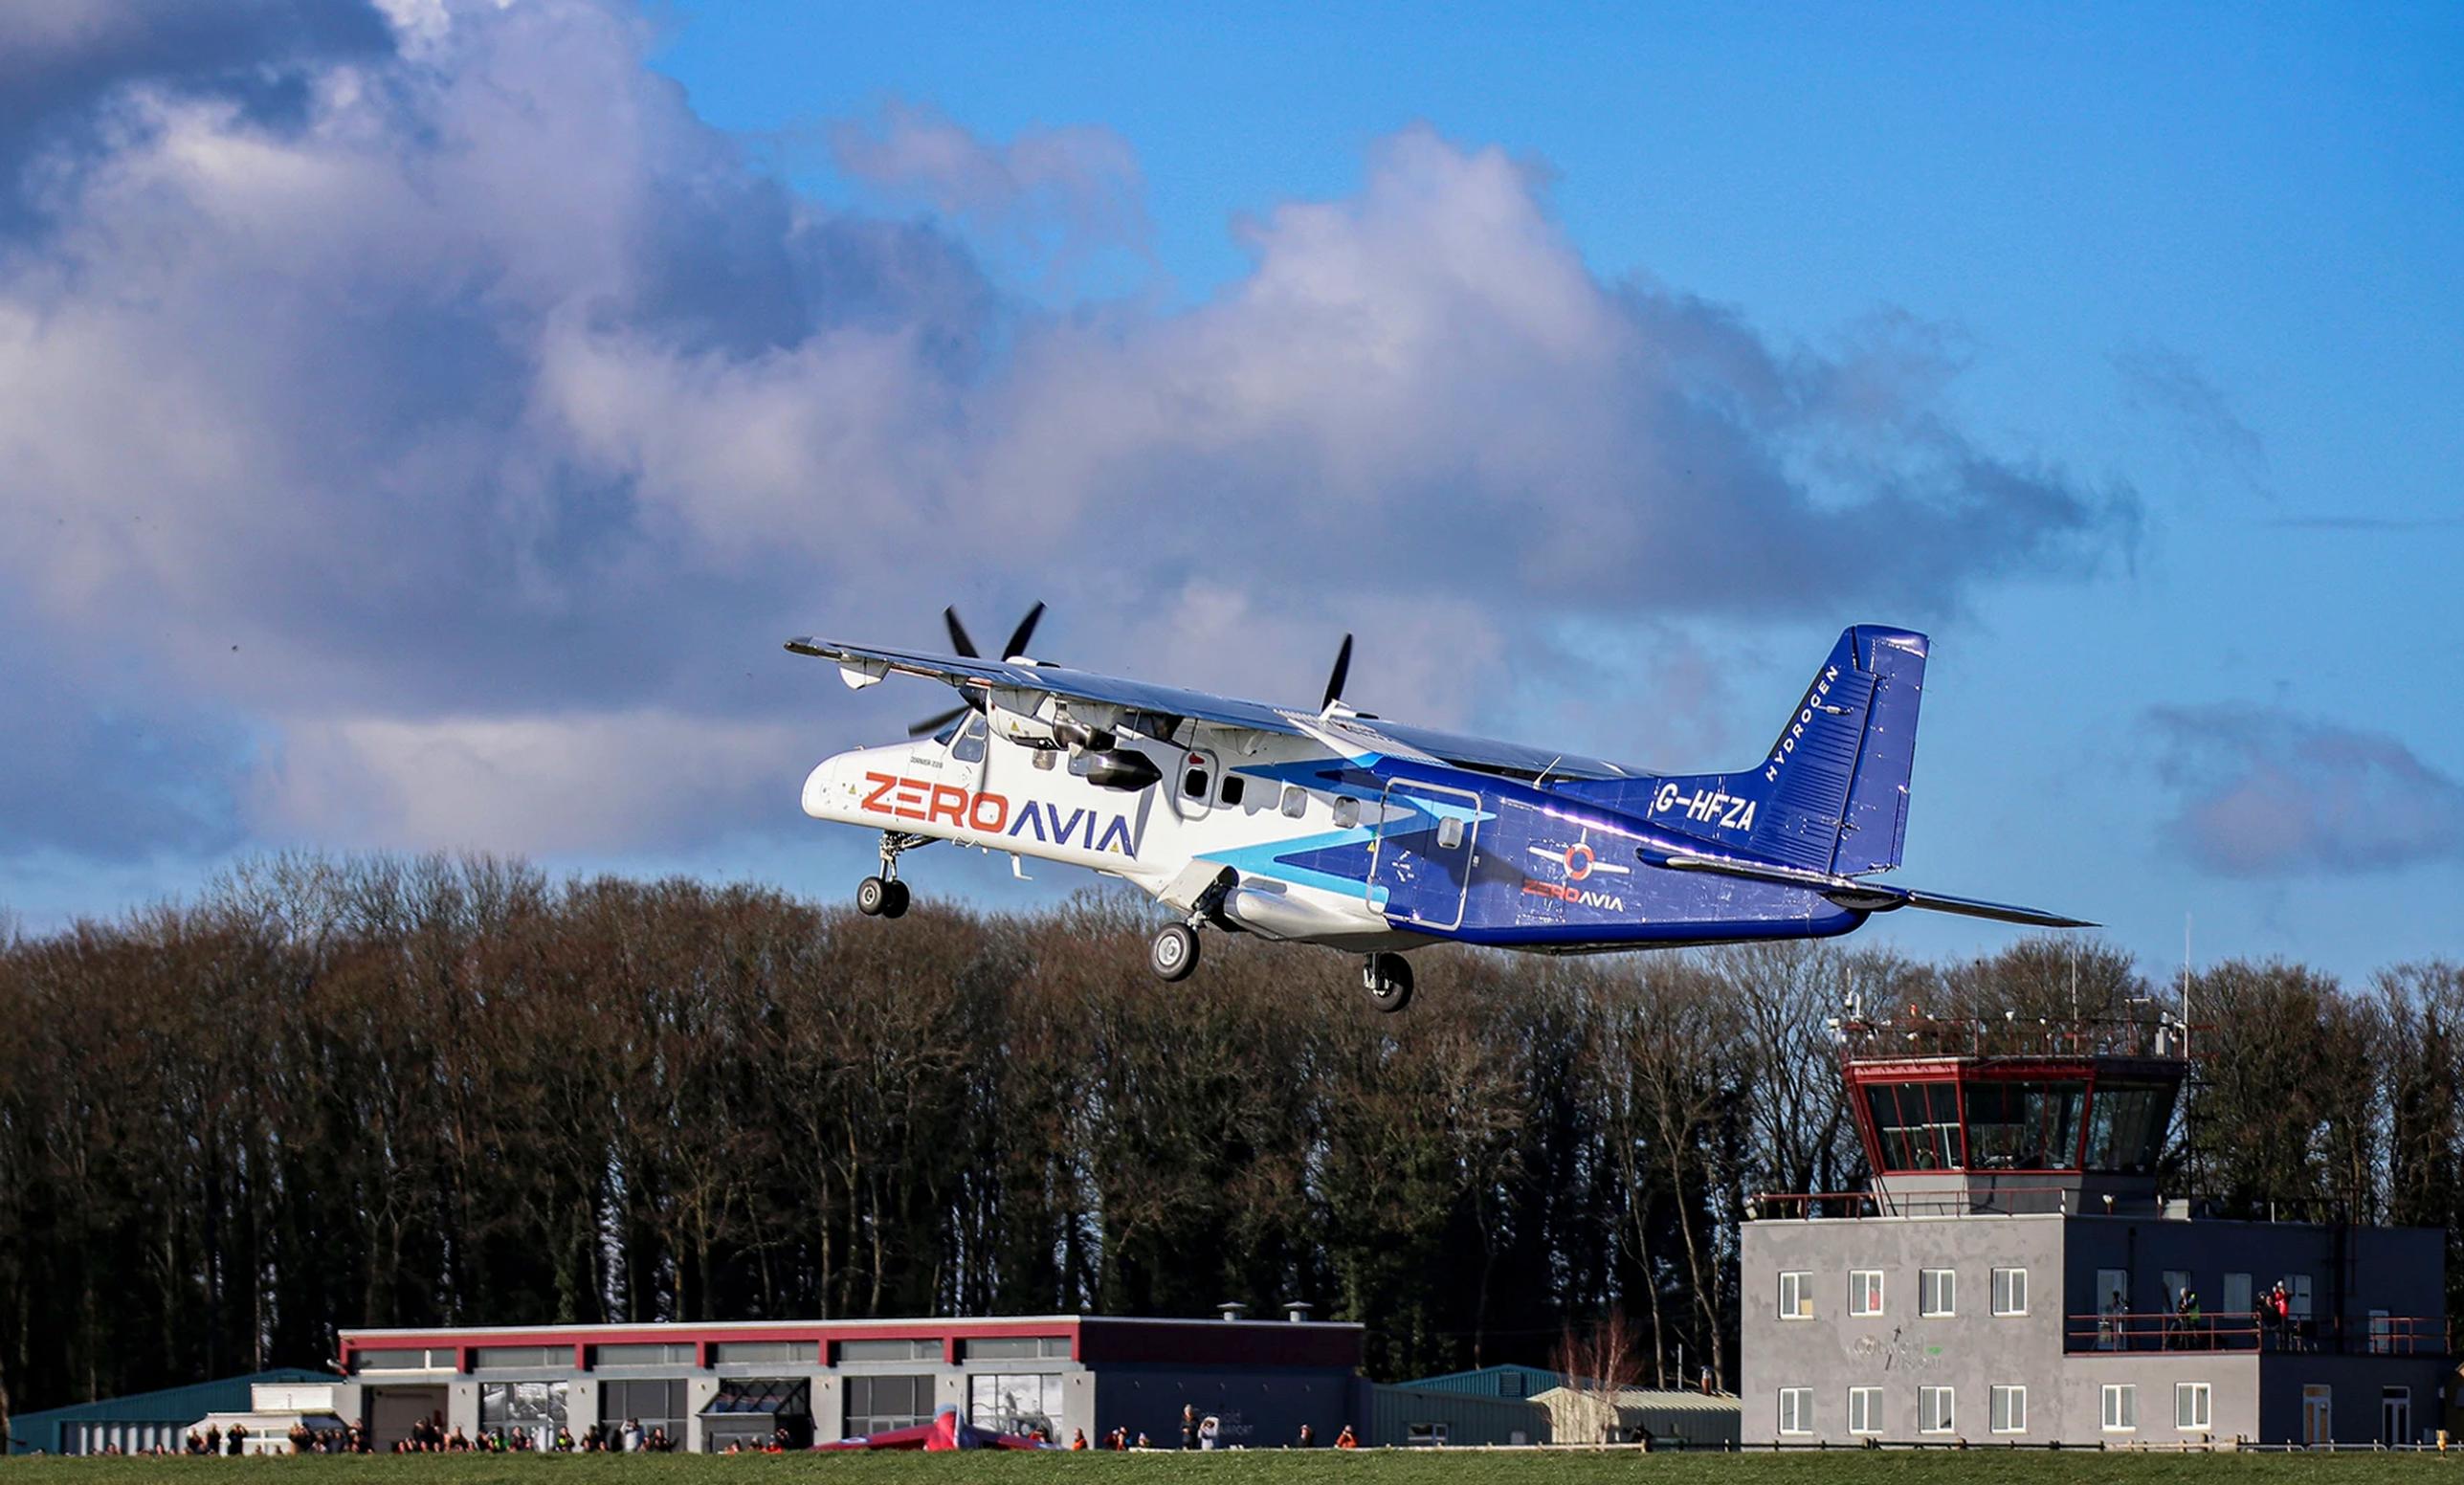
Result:
<svg viewBox="0 0 2464 1485"><path fill-rule="evenodd" d="M1483 1453L1483 1451L1360 1451L1311 1453L875 1453L875 1455L429 1455L429 1458L298 1458L298 1460L145 1460L145 1458L15 1458L0 1463L0 1485L74 1478L79 1485L118 1480L158 1485L192 1475L266 1478L288 1485L384 1480L387 1485L734 1485L771 1480L796 1485L909 1485L924 1480L1207 1480L1207 1483L1547 1483L1636 1480L1656 1485L1993 1485L2124 1480L2129 1485L2375 1485L2380 1480L2464 1483L2459 1453L2341 1455L2114 1455L2114 1453L1794 1453L1794 1455L1673 1455L1673 1453Z"/></svg>

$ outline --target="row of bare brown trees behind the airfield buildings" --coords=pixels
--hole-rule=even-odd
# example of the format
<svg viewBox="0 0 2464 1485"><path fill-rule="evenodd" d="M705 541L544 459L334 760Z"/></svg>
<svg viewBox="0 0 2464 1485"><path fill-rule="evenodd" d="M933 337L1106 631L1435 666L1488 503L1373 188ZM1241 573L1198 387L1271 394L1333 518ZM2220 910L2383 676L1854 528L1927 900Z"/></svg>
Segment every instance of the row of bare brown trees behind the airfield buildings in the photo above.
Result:
<svg viewBox="0 0 2464 1485"><path fill-rule="evenodd" d="M12 938L0 1409L318 1364L347 1325L1220 1300L1365 1320L1377 1377L1545 1364L1619 1308L1646 1377L1732 1379L1745 1199L1863 1175L1843 992L2018 1024L2178 992L2067 938L1429 953L1382 1017L1350 960L1230 936L1158 985L1148 931L1119 894L890 924L283 857ZM2190 990L2176 1182L2464 1229L2464 973Z"/></svg>

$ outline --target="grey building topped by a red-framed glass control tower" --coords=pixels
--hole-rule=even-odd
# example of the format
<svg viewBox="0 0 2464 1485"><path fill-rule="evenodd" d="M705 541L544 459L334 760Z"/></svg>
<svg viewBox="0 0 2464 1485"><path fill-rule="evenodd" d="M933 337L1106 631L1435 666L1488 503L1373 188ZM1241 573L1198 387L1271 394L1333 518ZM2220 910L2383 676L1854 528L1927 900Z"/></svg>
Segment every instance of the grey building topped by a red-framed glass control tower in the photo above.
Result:
<svg viewBox="0 0 2464 1485"><path fill-rule="evenodd" d="M1747 1209L1747 1446L2368 1446L2452 1428L2442 1231L2227 1221L2156 1189L2188 1069L2178 1027L2139 1054L1897 1042L1843 1064L1873 1187Z"/></svg>

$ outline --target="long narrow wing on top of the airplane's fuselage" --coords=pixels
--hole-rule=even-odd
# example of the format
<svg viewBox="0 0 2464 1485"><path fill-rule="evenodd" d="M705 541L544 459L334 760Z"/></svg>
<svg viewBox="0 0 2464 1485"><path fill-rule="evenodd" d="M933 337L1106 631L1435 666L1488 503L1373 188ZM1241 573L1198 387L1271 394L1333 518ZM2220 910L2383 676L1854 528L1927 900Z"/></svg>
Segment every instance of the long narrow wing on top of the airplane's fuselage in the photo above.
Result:
<svg viewBox="0 0 2464 1485"><path fill-rule="evenodd" d="M786 648L793 650L796 655L835 660L850 675L850 685L870 685L872 680L880 680L887 672L897 672L897 675L917 675L924 680L939 680L956 687L983 687L983 690L1018 687L1018 690L1067 697L1072 702L1096 702L1104 707L1124 707L1129 712L1183 717L1190 722L1210 722L1215 726L1281 731L1289 736L1306 736L1301 722L1308 722L1313 726L1331 726L1340 731L1345 739L1368 746L1397 744L1390 746L1390 751L1427 754L1441 763L1454 763L1459 768L1481 768L1488 773L1513 773L1523 778L1533 778L1540 773L1547 773L1550 778L1646 778L1646 771L1626 768L1607 759L1555 754L1550 749L1493 741L1483 736L1464 736L1434 726L1404 726L1387 722L1382 717L1338 714L1333 719L1321 719L1311 709L1269 707L1266 702L1242 702L1234 697L1215 697L1207 692L1193 692L1173 685L1121 680L1116 675L1096 675L1092 670L1069 670L1067 665L1018 665L1010 660L968 660L961 655L934 655L926 650L885 650L880 645L845 645L823 638L796 638L788 640Z"/></svg>

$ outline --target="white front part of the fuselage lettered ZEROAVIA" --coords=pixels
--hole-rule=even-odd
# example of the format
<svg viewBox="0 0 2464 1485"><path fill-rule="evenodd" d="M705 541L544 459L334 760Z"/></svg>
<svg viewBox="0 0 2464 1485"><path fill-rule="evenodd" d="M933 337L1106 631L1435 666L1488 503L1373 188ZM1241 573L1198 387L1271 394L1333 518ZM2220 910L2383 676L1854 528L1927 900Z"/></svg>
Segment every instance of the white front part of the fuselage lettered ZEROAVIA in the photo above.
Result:
<svg viewBox="0 0 2464 1485"><path fill-rule="evenodd" d="M1210 729L1198 729L1193 746L1124 734L1119 744L1161 771L1158 783L1124 791L1072 771L1084 766L1079 754L988 739L983 719L971 717L949 741L825 759L803 781L803 813L1087 867L1180 911L1232 869L1237 879L1220 911L1254 933L1338 948L1422 943L1370 906L1368 882L1271 867L1274 847L1296 840L1370 840L1380 803L1271 776L1333 756L1306 736L1239 736L1254 751L1227 756Z"/></svg>

